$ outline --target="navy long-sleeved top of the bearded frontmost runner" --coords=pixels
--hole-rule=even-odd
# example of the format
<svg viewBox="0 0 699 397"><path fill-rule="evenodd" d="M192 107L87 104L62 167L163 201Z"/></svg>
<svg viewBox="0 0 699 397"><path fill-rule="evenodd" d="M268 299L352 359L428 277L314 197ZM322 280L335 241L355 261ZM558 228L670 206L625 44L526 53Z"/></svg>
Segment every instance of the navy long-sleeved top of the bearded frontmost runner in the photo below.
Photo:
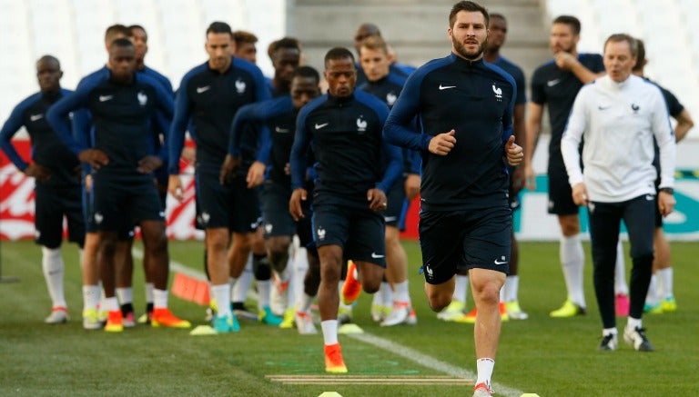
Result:
<svg viewBox="0 0 699 397"><path fill-rule="evenodd" d="M482 58L451 54L411 74L384 128L391 144L422 154L421 208L461 211L507 205L504 143L512 135L517 88L512 76ZM418 116L421 133L410 129ZM431 154L431 138L455 130L447 155Z"/></svg>

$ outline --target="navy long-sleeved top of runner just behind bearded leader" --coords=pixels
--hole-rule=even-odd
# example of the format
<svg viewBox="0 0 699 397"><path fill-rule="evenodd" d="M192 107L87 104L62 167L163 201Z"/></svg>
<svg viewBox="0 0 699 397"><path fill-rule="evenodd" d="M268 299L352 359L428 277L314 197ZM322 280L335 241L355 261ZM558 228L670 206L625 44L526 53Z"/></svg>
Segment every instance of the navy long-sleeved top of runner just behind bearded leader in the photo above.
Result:
<svg viewBox="0 0 699 397"><path fill-rule="evenodd" d="M310 147L317 174L313 204L369 208L367 191L388 192L401 173L400 150L381 137L388 114L386 104L360 90L348 97L320 95L306 104L289 161L292 189L305 185Z"/></svg>

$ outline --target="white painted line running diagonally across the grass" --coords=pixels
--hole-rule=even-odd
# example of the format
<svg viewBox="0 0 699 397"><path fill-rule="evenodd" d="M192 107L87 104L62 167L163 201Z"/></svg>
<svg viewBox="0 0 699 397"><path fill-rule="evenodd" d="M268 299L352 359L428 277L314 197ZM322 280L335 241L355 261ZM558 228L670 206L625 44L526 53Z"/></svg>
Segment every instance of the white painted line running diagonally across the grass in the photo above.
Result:
<svg viewBox="0 0 699 397"><path fill-rule="evenodd" d="M134 258L143 259L143 251L139 248L133 248L132 253ZM186 273L189 276L196 277L200 280L206 280L206 275L202 272L198 272L185 266L177 261L170 260L170 270L180 273ZM380 338L379 336L372 335L370 333L353 333L347 335L350 338L354 338L360 342L368 343L372 346L378 347L386 352L391 352L393 354L400 355L411 362L415 362L420 366L430 368L431 370L439 371L445 373L449 376L454 376L458 378L465 378L470 380L476 379L476 374L465 369L460 368L455 365L451 365L448 362L442 362L437 360L427 354L423 354L416 350L410 349L408 346L404 346L400 343L391 342L388 339ZM523 392L517 389L512 389L511 387L505 386L501 383L492 383L492 388L497 392L498 395L504 395L507 397L520 397Z"/></svg>

